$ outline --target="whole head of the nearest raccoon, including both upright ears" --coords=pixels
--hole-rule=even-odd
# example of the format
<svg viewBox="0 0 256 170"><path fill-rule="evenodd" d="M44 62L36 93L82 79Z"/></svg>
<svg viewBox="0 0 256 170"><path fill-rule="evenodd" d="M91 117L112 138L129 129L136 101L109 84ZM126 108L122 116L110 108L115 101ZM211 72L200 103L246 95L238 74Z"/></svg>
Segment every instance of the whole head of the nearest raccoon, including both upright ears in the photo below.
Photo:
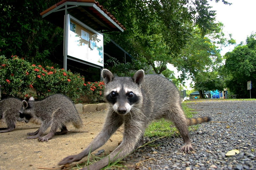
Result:
<svg viewBox="0 0 256 170"><path fill-rule="evenodd" d="M133 77L114 77L109 70L103 69L102 77L105 82L104 96L116 113L125 115L141 106L143 70L136 71Z"/></svg>

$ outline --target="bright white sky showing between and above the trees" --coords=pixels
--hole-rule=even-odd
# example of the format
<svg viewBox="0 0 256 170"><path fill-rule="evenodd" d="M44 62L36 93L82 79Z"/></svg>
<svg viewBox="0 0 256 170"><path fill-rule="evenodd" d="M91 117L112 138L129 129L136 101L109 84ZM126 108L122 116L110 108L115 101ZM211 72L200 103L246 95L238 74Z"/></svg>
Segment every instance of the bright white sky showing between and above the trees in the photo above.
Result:
<svg viewBox="0 0 256 170"><path fill-rule="evenodd" d="M225 5L220 0L210 1L211 10L216 11L216 20L224 24L223 32L228 36L232 34L232 38L236 40L236 44L241 41L246 42L247 36L256 33L256 0L226 0L232 5ZM226 52L232 51L235 46L222 48L220 54L223 56ZM171 64L167 65L169 70L174 71L175 77L180 74ZM186 81L185 85L189 88L191 80Z"/></svg>

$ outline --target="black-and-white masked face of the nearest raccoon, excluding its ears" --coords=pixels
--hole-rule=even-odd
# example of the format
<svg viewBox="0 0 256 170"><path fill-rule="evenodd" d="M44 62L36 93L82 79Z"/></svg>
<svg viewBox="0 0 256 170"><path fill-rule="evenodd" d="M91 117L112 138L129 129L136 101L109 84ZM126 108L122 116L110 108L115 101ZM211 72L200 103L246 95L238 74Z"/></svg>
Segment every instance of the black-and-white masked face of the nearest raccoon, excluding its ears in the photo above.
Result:
<svg viewBox="0 0 256 170"><path fill-rule="evenodd" d="M106 99L113 106L113 110L119 115L125 115L130 112L131 108L140 100L132 90L126 88L113 89Z"/></svg>

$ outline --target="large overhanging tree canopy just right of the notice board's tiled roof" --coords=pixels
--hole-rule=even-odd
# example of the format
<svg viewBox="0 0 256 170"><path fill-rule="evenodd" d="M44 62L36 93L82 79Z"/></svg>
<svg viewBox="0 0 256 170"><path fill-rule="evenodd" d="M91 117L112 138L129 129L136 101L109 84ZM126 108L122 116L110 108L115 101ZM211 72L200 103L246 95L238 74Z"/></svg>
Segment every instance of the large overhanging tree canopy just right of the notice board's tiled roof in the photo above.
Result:
<svg viewBox="0 0 256 170"><path fill-rule="evenodd" d="M194 38L194 27L198 27L202 36L218 27L214 22L215 11L207 0L100 0L99 3L126 27L124 33L108 33L109 37L136 59L150 65L156 74L180 57L182 49Z"/></svg>

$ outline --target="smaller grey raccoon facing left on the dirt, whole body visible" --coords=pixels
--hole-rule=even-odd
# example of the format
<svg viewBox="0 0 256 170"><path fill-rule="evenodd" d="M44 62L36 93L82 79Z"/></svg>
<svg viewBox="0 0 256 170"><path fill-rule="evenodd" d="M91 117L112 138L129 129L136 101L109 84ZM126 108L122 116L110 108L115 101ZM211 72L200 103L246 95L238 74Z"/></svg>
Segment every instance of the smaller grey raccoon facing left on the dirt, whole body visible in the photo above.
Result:
<svg viewBox="0 0 256 170"><path fill-rule="evenodd" d="M48 141L54 135L64 135L68 133L66 124L72 123L75 128L82 127L82 120L75 108L74 103L69 97L62 94L53 94L43 100L30 97L29 101L22 101L20 117L25 120L36 117L41 120L41 127L30 135L27 139L38 138L38 141ZM51 126L50 132L43 136L43 133ZM57 132L61 129L60 132Z"/></svg>

